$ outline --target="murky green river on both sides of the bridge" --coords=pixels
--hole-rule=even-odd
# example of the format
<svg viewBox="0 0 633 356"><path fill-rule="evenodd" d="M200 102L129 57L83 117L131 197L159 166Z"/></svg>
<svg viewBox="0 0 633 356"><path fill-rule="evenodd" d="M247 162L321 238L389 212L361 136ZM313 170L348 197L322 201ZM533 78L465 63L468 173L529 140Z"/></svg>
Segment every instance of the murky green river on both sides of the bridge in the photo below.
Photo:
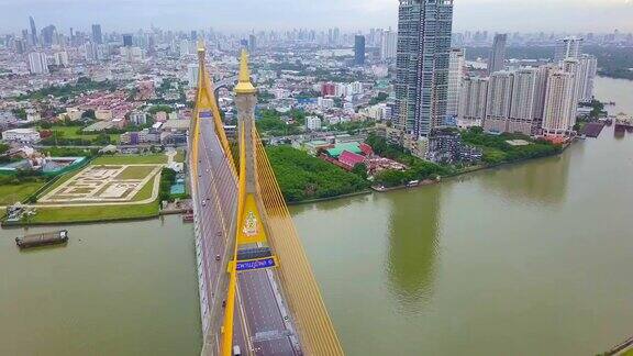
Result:
<svg viewBox="0 0 633 356"><path fill-rule="evenodd" d="M633 81L596 93L633 113ZM347 354L592 355L631 336L631 153L607 129L558 157L292 207ZM199 354L191 225L68 229L23 253L0 231L0 355Z"/></svg>

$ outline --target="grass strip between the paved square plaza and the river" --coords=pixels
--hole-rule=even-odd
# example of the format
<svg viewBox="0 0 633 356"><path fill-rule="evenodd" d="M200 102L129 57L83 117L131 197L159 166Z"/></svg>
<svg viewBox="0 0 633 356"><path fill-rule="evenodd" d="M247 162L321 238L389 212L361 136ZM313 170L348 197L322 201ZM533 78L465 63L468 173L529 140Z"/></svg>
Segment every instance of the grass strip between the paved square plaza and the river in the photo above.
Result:
<svg viewBox="0 0 633 356"><path fill-rule="evenodd" d="M142 219L158 215L158 202L141 205L101 205L70 208L37 208L33 223L65 223Z"/></svg>

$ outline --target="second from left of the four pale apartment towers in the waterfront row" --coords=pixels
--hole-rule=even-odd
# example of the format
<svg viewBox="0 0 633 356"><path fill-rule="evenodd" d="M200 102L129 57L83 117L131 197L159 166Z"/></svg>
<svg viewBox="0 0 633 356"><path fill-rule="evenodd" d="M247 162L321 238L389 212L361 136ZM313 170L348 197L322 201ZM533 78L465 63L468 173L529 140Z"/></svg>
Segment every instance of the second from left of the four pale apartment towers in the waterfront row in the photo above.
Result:
<svg viewBox="0 0 633 356"><path fill-rule="evenodd" d="M484 130L490 132L508 131L513 80L514 75L506 70L496 71L490 75Z"/></svg>

